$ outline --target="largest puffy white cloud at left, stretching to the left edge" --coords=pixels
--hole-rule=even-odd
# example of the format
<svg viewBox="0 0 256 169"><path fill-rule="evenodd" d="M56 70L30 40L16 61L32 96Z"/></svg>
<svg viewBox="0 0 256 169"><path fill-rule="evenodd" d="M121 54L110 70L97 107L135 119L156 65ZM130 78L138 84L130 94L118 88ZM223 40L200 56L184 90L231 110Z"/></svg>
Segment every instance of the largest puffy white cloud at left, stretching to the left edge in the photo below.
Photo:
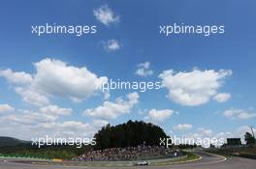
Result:
<svg viewBox="0 0 256 169"><path fill-rule="evenodd" d="M49 97L88 99L101 91L99 86L108 82L106 76L98 77L85 67L69 66L60 60L46 58L34 66L33 75L13 70L1 70L1 74L14 85L24 101L39 106L48 104Z"/></svg>

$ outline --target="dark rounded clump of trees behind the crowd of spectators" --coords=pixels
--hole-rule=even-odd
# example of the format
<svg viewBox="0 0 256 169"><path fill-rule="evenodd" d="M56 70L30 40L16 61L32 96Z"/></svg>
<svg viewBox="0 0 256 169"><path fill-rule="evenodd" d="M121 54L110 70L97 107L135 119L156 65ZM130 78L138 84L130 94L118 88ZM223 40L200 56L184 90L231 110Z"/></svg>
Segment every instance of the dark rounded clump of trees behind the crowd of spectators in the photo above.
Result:
<svg viewBox="0 0 256 169"><path fill-rule="evenodd" d="M143 121L128 121L126 124L102 127L95 135L96 149L158 146L160 138L167 138L161 127Z"/></svg>

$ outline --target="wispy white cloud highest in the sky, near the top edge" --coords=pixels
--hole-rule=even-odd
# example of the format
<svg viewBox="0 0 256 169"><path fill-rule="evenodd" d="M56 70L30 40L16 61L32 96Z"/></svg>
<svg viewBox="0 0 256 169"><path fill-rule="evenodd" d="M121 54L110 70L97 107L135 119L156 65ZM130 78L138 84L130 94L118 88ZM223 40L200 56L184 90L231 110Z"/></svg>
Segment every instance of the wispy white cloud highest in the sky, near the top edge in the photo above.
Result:
<svg viewBox="0 0 256 169"><path fill-rule="evenodd" d="M111 23L119 22L119 16L113 14L108 5L103 5L97 10L93 10L93 14L103 24L109 26Z"/></svg>

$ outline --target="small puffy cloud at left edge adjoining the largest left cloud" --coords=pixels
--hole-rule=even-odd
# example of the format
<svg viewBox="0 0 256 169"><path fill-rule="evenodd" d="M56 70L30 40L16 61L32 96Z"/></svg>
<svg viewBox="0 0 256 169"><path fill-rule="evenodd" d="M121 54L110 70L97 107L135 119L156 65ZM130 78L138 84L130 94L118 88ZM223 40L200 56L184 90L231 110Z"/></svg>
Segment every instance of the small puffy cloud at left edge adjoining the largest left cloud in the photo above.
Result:
<svg viewBox="0 0 256 169"><path fill-rule="evenodd" d="M0 76L3 76L11 84L26 85L30 84L33 80L29 73L24 71L14 72L13 70L0 70Z"/></svg>

